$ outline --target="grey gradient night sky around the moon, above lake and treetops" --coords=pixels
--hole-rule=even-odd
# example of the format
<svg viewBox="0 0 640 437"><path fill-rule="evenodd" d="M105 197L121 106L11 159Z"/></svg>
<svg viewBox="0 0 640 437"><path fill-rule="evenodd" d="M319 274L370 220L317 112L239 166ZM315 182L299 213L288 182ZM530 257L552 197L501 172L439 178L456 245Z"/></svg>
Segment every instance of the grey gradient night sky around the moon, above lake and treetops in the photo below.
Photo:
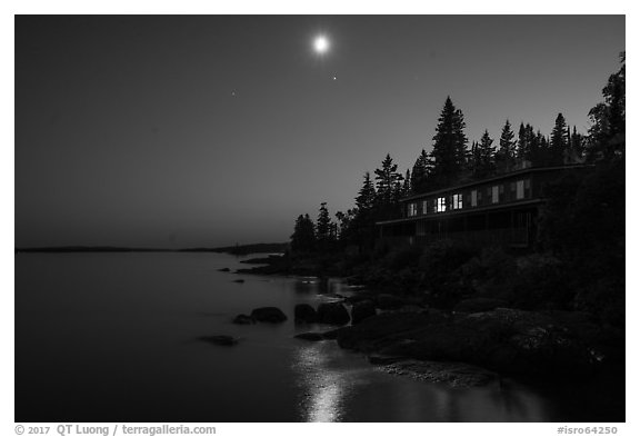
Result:
<svg viewBox="0 0 640 437"><path fill-rule="evenodd" d="M429 151L448 95L470 141L586 132L623 50L623 16L20 16L16 246L286 241Z"/></svg>

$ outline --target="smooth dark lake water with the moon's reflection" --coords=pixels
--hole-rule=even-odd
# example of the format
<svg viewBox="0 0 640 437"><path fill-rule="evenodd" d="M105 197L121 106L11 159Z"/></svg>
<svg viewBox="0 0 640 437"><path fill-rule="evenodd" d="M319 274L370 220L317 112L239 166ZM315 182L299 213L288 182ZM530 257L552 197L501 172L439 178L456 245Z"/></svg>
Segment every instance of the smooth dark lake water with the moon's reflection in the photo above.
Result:
<svg viewBox="0 0 640 437"><path fill-rule="evenodd" d="M306 342L299 302L338 281L237 276L218 254L16 255L16 421L580 421L574 394L452 389ZM244 284L232 280L242 277ZM279 326L231 319L278 306ZM232 348L197 338L227 334ZM622 418L623 420L623 418Z"/></svg>

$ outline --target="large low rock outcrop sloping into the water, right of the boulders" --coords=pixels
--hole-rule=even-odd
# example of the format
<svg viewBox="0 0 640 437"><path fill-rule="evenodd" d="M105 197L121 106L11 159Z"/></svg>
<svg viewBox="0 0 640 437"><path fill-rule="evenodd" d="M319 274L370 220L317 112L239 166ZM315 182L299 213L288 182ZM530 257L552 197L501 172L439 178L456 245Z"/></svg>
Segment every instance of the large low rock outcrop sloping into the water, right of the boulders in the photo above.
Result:
<svg viewBox="0 0 640 437"><path fill-rule="evenodd" d="M340 347L422 361L457 361L504 374L559 377L619 360L623 335L569 311L387 312L338 332Z"/></svg>

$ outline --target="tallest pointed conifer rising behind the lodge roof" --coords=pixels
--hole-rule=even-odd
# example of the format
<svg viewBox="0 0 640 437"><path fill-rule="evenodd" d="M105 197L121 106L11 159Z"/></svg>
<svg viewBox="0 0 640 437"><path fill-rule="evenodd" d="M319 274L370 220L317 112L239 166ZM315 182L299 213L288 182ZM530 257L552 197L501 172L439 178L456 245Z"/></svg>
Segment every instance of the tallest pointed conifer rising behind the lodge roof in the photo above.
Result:
<svg viewBox="0 0 640 437"><path fill-rule="evenodd" d="M467 161L464 127L462 111L456 109L451 98L447 97L431 151L433 169L429 179L434 188L453 185L462 176Z"/></svg>

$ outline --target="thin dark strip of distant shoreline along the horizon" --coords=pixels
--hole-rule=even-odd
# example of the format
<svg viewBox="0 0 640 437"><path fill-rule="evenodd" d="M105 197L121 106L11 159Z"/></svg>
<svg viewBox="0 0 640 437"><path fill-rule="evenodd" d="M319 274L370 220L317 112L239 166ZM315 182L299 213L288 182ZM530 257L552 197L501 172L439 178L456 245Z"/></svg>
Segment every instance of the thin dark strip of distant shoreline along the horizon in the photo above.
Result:
<svg viewBox="0 0 640 437"><path fill-rule="evenodd" d="M54 247L29 247L16 248L18 254L69 254L69 252L218 252L232 255L283 252L289 245L287 242L260 242L253 245L237 245L226 247L193 247L182 249L169 248L137 248L117 246L54 246Z"/></svg>

